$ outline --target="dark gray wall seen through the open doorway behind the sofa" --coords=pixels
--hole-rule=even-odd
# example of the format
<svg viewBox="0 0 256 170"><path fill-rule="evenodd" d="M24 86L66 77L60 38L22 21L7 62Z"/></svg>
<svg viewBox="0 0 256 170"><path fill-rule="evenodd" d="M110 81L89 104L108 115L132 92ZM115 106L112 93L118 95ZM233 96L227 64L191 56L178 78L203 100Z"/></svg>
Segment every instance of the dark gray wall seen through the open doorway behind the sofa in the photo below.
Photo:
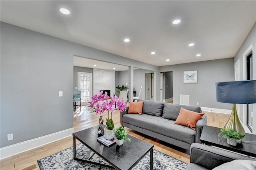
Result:
<svg viewBox="0 0 256 170"><path fill-rule="evenodd" d="M165 72L165 95L164 99L169 99L173 97L173 76L172 71Z"/></svg>

